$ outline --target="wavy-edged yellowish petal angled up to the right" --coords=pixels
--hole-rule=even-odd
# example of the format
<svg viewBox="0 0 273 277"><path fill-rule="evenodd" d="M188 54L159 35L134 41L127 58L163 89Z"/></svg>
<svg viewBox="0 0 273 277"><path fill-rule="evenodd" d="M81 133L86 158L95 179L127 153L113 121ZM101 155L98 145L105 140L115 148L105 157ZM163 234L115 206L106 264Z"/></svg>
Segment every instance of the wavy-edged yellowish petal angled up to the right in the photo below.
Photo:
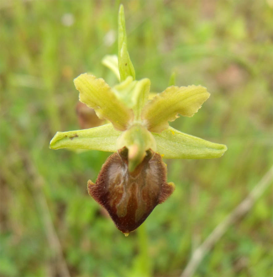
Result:
<svg viewBox="0 0 273 277"><path fill-rule="evenodd" d="M203 86L170 86L146 104L141 118L149 131L160 133L168 128L168 121L178 117L178 113L193 116L209 96Z"/></svg>

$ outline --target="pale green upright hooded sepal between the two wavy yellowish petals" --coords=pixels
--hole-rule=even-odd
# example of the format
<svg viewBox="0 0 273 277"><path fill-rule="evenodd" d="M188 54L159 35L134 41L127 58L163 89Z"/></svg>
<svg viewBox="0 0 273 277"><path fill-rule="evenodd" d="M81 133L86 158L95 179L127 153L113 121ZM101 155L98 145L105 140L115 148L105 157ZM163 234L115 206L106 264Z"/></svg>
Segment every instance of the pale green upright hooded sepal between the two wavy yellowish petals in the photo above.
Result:
<svg viewBox="0 0 273 277"><path fill-rule="evenodd" d="M134 120L141 120L141 110L148 101L151 81L148 78L133 81L128 76L125 81L113 87L116 96L134 112Z"/></svg>

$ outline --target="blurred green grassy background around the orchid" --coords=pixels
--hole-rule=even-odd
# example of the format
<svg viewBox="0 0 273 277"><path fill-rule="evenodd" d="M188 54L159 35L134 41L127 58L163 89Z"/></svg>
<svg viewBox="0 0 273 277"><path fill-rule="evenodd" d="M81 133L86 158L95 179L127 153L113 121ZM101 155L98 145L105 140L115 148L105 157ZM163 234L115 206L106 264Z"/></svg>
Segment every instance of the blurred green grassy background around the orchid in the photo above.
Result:
<svg viewBox="0 0 273 277"><path fill-rule="evenodd" d="M115 83L101 59L117 53L120 2L0 4L1 276L61 276L63 267L71 276L179 276L272 165L272 3L123 1L137 79L161 92L175 71L179 86L206 86L202 109L172 126L229 148L215 160L166 160L176 190L128 237L86 190L109 153L48 149L56 131L79 128L73 78L91 71ZM270 187L195 276L272 274Z"/></svg>

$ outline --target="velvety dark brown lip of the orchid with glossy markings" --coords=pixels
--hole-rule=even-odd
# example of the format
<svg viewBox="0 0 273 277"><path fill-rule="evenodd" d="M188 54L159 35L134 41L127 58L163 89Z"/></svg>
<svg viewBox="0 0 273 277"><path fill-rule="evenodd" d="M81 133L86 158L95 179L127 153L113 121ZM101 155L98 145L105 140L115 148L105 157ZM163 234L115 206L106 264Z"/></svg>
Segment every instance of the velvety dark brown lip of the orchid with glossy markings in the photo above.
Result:
<svg viewBox="0 0 273 277"><path fill-rule="evenodd" d="M106 160L95 184L88 181L88 192L108 211L116 227L128 234L174 191L174 184L166 183L166 173L161 156L152 150L129 172L124 147Z"/></svg>

